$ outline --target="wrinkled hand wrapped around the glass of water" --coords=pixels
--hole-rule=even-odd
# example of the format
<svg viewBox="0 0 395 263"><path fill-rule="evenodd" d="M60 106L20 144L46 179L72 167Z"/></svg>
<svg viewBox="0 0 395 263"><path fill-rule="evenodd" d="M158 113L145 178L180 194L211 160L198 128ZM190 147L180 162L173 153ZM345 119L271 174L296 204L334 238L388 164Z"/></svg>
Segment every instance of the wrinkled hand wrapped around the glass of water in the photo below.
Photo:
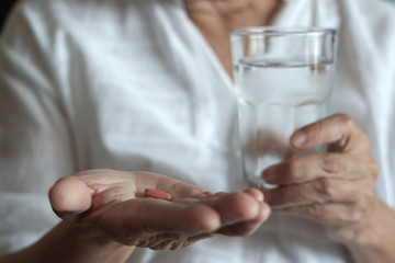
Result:
<svg viewBox="0 0 395 263"><path fill-rule="evenodd" d="M278 188L263 191L274 210L318 220L340 242L356 238L373 211L379 169L370 153L368 136L345 114L303 127L291 137L298 150L328 144L327 153L287 159L263 171ZM354 231L356 230L356 231Z"/></svg>

